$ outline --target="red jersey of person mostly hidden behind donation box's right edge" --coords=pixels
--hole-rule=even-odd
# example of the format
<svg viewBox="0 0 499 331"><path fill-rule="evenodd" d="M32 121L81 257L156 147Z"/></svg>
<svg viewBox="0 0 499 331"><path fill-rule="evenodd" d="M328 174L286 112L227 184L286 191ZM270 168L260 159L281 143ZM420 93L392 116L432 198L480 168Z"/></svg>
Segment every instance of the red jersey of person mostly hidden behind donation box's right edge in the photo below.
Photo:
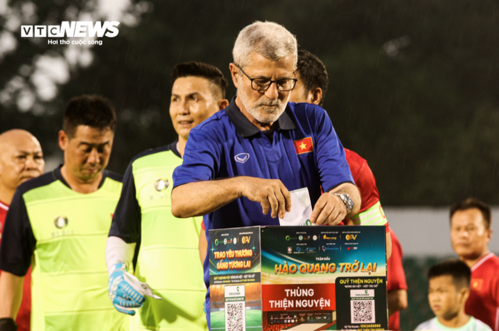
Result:
<svg viewBox="0 0 499 331"><path fill-rule="evenodd" d="M408 289L402 265L402 245L394 231L389 229L392 237L392 257L387 262L387 292L396 289ZM388 319L389 330L400 330L400 312L394 312Z"/></svg>

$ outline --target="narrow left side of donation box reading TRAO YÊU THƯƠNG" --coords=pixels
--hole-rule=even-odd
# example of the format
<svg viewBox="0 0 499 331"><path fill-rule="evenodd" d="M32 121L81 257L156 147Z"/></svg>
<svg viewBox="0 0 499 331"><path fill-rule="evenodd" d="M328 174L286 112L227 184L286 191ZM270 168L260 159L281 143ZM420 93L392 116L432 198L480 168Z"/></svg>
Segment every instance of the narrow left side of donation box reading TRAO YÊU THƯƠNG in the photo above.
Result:
<svg viewBox="0 0 499 331"><path fill-rule="evenodd" d="M211 330L262 330L260 227L209 231Z"/></svg>

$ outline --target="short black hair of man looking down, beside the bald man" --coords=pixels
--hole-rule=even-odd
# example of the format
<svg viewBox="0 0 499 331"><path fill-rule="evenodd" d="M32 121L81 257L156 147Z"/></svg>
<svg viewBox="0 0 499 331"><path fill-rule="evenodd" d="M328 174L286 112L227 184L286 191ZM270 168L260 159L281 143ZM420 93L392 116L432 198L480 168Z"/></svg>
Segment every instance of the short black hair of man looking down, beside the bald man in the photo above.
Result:
<svg viewBox="0 0 499 331"><path fill-rule="evenodd" d="M102 96L78 96L69 100L64 109L62 129L73 138L78 125L96 129L116 129L116 111L111 102Z"/></svg>

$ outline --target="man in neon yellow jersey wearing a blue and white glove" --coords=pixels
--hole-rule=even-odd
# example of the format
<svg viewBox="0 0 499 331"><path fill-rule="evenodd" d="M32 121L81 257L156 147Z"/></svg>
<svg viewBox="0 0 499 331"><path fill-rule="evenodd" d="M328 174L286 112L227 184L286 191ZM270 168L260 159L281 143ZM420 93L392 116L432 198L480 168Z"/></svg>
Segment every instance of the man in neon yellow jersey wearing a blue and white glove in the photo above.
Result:
<svg viewBox="0 0 499 331"><path fill-rule="evenodd" d="M178 222L171 213L170 193L173 170L182 164L189 132L228 105L227 80L214 66L188 62L175 66L172 82L170 116L178 138L130 162L107 241L112 302L132 316L132 308L140 307L130 320L131 330L208 329L198 255L202 217ZM135 256L137 278L127 271L136 247L140 247ZM143 289L148 285L154 294Z"/></svg>

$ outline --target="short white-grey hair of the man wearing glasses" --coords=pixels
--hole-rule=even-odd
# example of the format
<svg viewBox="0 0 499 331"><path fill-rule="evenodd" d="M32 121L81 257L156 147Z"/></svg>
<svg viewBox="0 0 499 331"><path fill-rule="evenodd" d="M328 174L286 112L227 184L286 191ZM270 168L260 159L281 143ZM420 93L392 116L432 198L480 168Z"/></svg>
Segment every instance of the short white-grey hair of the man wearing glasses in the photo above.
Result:
<svg viewBox="0 0 499 331"><path fill-rule="evenodd" d="M298 62L296 37L283 26L269 21L255 21L240 30L232 50L234 63L241 67L249 65L249 55L252 53L272 61L291 55L293 67Z"/></svg>

